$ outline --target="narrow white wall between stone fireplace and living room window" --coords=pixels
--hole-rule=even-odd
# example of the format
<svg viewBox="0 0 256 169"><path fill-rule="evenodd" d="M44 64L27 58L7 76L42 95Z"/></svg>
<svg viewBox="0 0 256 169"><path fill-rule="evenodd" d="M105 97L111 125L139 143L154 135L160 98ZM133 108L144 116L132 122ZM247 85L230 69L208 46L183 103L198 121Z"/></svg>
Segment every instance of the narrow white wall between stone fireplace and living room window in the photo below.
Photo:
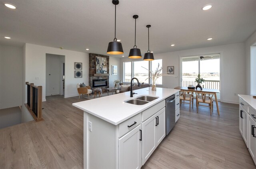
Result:
<svg viewBox="0 0 256 169"><path fill-rule="evenodd" d="M109 87L114 87L114 80L121 80L121 67L120 67L120 58L109 57ZM111 75L112 65L117 65L117 75Z"/></svg>

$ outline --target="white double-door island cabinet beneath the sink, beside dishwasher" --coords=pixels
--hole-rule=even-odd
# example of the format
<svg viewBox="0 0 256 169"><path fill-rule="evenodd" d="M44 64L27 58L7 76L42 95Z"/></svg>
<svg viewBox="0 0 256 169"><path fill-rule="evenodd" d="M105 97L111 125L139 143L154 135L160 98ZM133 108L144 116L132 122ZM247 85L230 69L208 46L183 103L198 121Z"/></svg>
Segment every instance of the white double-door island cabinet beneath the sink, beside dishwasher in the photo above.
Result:
<svg viewBox="0 0 256 169"><path fill-rule="evenodd" d="M165 137L165 107L142 122L142 165Z"/></svg>

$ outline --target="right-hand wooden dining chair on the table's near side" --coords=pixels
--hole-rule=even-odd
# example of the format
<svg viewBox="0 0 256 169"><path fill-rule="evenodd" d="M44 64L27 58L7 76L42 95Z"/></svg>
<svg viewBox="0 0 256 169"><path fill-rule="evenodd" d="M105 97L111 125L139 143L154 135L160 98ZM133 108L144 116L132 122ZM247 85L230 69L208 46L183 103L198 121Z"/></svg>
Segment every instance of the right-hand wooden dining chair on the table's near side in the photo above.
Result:
<svg viewBox="0 0 256 169"><path fill-rule="evenodd" d="M212 116L213 112L213 97L214 94L210 94L207 92L203 93L197 93L196 92L196 111L198 112L198 107L199 106L205 106L210 108L210 114ZM199 104L202 103L202 104Z"/></svg>

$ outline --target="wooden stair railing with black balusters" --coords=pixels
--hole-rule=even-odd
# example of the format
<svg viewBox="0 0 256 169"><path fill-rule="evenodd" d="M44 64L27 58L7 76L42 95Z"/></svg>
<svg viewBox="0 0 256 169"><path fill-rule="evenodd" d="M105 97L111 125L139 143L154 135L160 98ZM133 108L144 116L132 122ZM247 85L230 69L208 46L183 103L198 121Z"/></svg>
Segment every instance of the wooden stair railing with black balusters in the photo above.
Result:
<svg viewBox="0 0 256 169"><path fill-rule="evenodd" d="M28 83L28 103L25 104L26 108L36 122L44 120L42 118L42 86L36 86L34 83Z"/></svg>

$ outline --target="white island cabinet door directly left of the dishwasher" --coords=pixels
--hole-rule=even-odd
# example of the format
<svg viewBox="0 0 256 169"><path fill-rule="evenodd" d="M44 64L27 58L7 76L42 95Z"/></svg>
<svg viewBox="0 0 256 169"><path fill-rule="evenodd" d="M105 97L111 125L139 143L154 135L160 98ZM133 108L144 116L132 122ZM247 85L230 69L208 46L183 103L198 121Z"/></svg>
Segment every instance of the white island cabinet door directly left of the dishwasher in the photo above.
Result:
<svg viewBox="0 0 256 169"><path fill-rule="evenodd" d="M160 144L160 142L164 139L165 133L165 108L156 113L157 125L155 139L156 139L156 147Z"/></svg>

